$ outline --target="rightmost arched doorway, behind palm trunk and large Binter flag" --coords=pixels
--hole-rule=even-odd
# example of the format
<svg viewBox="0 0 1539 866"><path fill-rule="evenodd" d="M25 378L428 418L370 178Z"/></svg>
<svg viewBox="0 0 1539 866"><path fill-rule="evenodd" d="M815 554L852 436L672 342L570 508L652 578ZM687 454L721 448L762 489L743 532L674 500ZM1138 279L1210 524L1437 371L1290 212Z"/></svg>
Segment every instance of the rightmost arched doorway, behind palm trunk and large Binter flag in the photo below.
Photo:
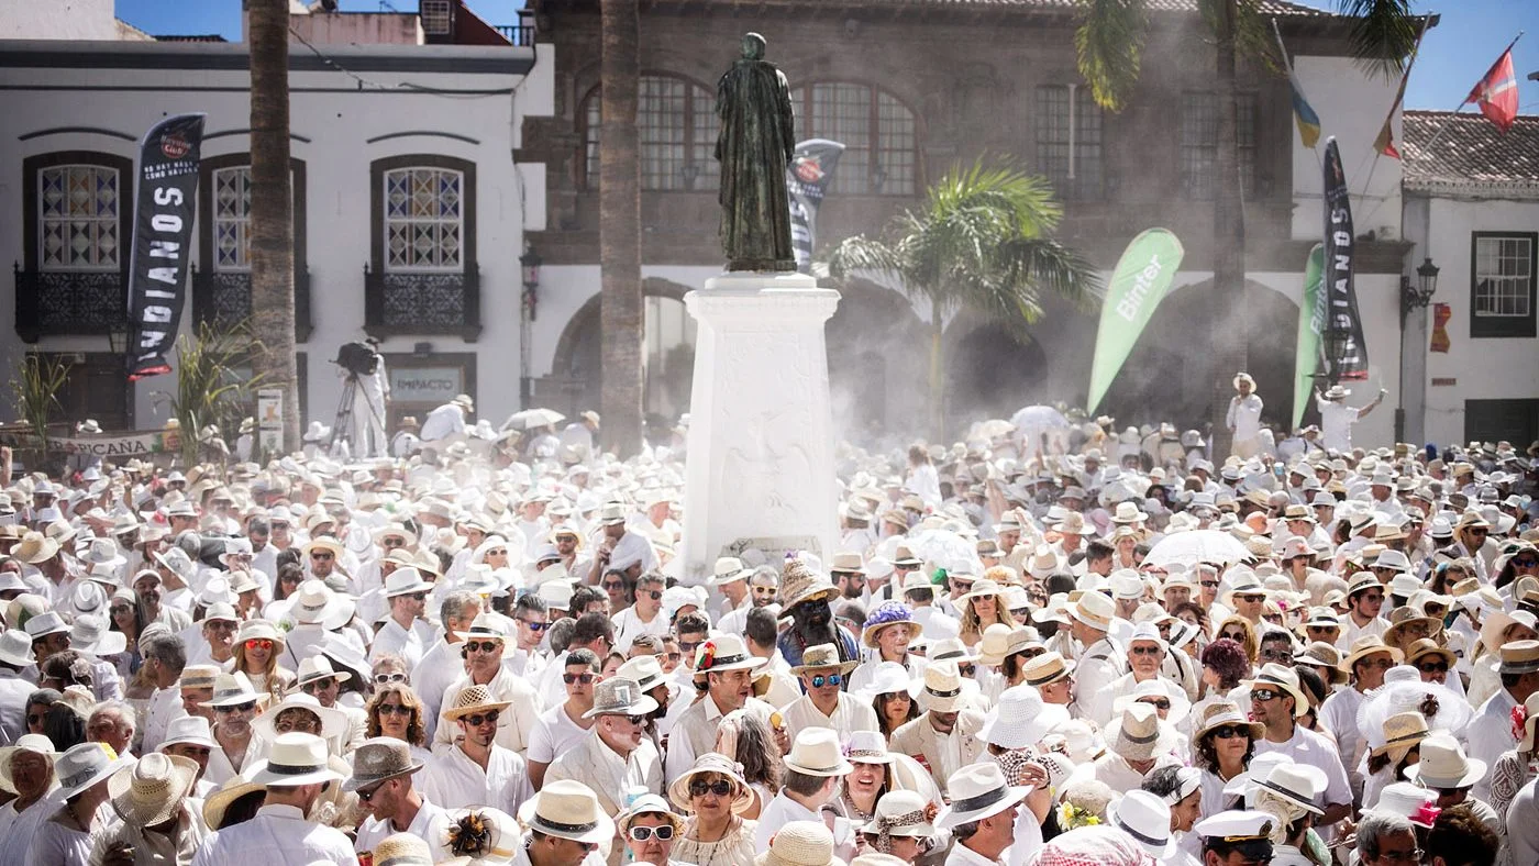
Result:
<svg viewBox="0 0 1539 866"><path fill-rule="evenodd" d="M1260 283L1245 283L1236 306L1237 321L1213 321L1219 295L1213 280L1182 286L1167 297L1139 337L1122 372L1107 391L1099 412L1116 415L1119 426L1173 421L1180 429L1202 428L1213 415L1211 383L1239 371L1213 369L1213 341L1220 328L1244 328L1247 372L1265 403L1262 420L1284 429L1293 411L1293 355L1299 305Z"/></svg>

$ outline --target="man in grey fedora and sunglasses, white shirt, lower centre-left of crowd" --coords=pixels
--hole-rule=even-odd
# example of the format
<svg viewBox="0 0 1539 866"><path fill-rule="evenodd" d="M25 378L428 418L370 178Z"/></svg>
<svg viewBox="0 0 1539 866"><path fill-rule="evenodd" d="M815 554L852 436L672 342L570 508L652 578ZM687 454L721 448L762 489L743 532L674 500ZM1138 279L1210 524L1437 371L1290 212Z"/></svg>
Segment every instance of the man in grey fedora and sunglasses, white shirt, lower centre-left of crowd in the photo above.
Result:
<svg viewBox="0 0 1539 866"><path fill-rule="evenodd" d="M620 812L625 797L646 789L663 789L662 755L646 737L646 717L657 701L628 677L611 677L594 686L593 708L583 715L594 720L588 735L559 755L545 774L551 780L571 778L591 788L605 814Z"/></svg>

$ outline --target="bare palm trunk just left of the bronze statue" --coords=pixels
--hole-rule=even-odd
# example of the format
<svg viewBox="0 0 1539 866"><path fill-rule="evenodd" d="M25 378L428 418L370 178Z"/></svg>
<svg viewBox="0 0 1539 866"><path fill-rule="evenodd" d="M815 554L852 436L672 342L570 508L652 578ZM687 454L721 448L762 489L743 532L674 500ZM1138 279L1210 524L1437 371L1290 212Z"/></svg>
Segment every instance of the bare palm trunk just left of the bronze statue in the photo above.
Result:
<svg viewBox="0 0 1539 866"><path fill-rule="evenodd" d="M642 168L636 129L640 86L636 0L602 0L599 146L599 301L603 341L603 446L642 448Z"/></svg>

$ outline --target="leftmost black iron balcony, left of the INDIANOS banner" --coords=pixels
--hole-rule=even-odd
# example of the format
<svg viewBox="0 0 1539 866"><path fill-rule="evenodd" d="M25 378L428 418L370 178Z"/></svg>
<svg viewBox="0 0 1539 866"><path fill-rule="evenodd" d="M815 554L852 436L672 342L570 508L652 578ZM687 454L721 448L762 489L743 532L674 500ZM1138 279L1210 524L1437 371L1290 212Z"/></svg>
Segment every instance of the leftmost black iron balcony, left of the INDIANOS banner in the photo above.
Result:
<svg viewBox="0 0 1539 866"><path fill-rule="evenodd" d="M122 271L15 272L15 334L25 343L42 337L108 334L122 328L128 277Z"/></svg>

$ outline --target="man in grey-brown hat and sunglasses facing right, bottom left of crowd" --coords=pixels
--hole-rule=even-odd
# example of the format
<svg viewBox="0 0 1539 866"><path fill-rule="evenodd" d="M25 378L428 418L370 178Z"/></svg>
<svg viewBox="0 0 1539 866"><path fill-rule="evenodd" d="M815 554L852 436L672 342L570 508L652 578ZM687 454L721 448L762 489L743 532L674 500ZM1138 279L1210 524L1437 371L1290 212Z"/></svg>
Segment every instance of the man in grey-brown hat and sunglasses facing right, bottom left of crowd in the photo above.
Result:
<svg viewBox="0 0 1539 866"><path fill-rule="evenodd" d="M352 848L363 854L374 851L391 834L406 832L417 838L442 838L449 826L443 808L429 803L412 784L423 769L412 758L411 746L392 737L374 737L352 752L352 775L342 789L359 797L368 818L359 824Z"/></svg>

